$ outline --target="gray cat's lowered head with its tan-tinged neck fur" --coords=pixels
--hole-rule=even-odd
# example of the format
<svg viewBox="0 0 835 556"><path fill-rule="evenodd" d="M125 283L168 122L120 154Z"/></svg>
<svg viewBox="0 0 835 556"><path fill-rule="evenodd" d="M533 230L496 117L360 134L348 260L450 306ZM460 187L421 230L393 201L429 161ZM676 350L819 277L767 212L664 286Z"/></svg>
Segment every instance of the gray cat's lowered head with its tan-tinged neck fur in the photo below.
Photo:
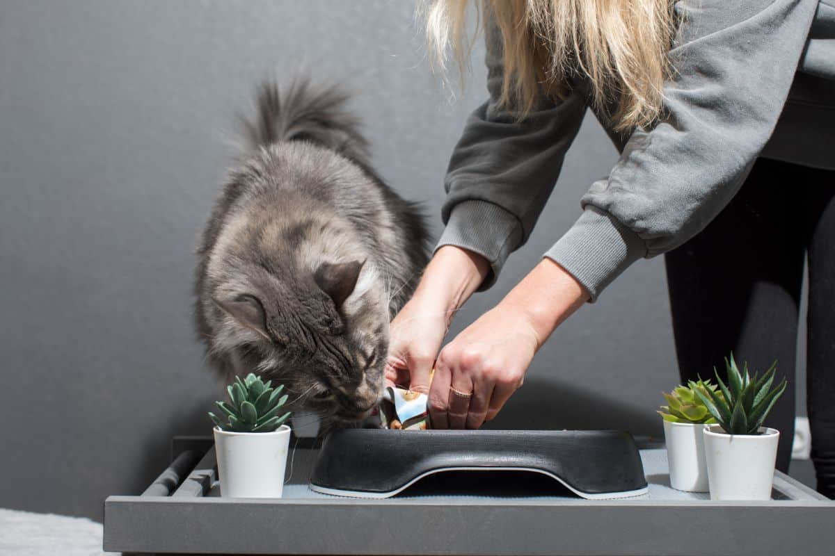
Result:
<svg viewBox="0 0 835 556"><path fill-rule="evenodd" d="M277 223L250 214L219 242L210 264L215 348L285 383L306 408L361 420L382 396L387 294L349 228L297 216Z"/></svg>

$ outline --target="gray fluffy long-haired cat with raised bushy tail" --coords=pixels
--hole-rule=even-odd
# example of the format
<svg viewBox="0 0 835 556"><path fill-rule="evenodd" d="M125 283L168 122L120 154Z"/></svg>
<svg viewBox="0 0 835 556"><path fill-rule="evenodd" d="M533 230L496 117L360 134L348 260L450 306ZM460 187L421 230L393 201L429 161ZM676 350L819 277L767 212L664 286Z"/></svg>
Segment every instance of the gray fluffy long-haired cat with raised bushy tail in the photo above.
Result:
<svg viewBox="0 0 835 556"><path fill-rule="evenodd" d="M251 154L229 176L198 255L197 323L230 378L254 371L353 422L381 398L388 323L427 263L412 203L368 163L337 87L264 83Z"/></svg>

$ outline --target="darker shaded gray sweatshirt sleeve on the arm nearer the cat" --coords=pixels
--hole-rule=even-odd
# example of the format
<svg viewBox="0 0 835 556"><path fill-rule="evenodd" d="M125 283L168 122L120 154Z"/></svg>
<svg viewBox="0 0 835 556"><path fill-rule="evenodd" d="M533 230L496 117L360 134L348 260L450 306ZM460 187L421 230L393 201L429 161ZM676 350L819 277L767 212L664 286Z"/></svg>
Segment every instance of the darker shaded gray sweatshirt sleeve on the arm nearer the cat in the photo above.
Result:
<svg viewBox="0 0 835 556"><path fill-rule="evenodd" d="M489 99L473 112L453 150L444 183L446 224L436 250L456 245L487 258L489 288L509 254L534 228L585 111L579 91L561 101L540 96L522 122L498 108L503 71L498 29L485 32Z"/></svg>

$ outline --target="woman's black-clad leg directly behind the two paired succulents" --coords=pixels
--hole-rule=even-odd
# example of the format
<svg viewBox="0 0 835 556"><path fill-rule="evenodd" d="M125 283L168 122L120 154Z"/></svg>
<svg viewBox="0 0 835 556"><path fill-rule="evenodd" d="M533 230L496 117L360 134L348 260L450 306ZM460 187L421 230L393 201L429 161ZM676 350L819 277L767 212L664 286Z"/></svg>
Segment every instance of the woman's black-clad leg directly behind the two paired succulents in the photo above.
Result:
<svg viewBox="0 0 835 556"><path fill-rule="evenodd" d="M681 380L724 380L724 358L777 372L789 388L767 425L780 430L777 468L794 435L794 368L805 214L791 164L761 158L731 203L695 238L665 256ZM715 379L714 379L715 381Z"/></svg>

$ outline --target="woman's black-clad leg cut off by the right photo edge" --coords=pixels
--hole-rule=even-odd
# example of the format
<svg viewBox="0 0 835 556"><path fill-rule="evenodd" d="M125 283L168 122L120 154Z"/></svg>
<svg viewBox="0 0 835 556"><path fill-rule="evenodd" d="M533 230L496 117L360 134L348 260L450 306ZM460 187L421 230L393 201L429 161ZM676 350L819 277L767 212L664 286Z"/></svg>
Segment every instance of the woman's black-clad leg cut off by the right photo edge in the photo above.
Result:
<svg viewBox="0 0 835 556"><path fill-rule="evenodd" d="M835 498L835 172L807 175L807 413L817 490Z"/></svg>

